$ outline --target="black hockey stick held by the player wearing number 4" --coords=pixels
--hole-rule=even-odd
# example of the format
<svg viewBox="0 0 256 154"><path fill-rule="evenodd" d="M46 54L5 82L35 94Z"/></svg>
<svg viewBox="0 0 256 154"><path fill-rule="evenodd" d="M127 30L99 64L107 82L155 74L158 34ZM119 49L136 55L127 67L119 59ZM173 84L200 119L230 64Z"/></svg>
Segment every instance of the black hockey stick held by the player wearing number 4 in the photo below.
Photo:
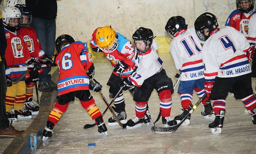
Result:
<svg viewBox="0 0 256 154"><path fill-rule="evenodd" d="M157 134L174 133L180 127L180 125L188 118L189 114L191 114L196 109L196 107L205 99L206 96L207 94L204 93L203 97L199 99L193 107L191 107L191 109L189 110L189 113L177 125L174 125L171 127L153 126L151 128L151 131Z"/></svg>

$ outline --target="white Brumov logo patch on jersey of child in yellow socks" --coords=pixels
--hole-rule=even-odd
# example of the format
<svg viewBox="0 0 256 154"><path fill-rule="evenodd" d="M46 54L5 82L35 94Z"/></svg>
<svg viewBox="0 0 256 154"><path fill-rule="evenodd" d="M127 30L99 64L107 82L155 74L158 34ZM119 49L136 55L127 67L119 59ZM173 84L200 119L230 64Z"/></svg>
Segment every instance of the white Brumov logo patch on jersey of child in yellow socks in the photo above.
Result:
<svg viewBox="0 0 256 154"><path fill-rule="evenodd" d="M15 58L24 57L22 52L21 40L19 37L13 37L11 40L12 52Z"/></svg>

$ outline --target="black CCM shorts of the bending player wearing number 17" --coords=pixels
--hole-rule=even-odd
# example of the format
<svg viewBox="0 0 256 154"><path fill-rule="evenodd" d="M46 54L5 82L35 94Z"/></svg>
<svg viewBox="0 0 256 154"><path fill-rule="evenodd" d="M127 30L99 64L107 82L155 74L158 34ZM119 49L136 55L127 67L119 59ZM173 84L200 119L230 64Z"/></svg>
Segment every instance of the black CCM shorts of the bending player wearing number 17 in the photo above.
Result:
<svg viewBox="0 0 256 154"><path fill-rule="evenodd" d="M136 102L148 101L154 89L156 89L158 95L164 90L171 90L173 93L172 79L167 76L164 69L147 78L141 87L135 86L133 100Z"/></svg>

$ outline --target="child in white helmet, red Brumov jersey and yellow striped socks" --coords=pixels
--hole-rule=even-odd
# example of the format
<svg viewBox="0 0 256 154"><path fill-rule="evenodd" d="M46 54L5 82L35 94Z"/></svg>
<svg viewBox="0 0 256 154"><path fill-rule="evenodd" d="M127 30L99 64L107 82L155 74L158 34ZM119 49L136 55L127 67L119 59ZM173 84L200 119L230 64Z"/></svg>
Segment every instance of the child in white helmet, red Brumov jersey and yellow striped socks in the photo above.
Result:
<svg viewBox="0 0 256 154"><path fill-rule="evenodd" d="M7 65L24 65L33 64L32 70L37 71L41 67L34 60L30 59L28 48L24 44L24 40L19 36L19 30L22 16L20 10L16 7L5 7L2 11L3 24L5 28L5 35L7 40L7 48L5 50L5 59ZM6 92L6 113L9 118L31 118L31 112L23 108L25 95L26 95L26 77L22 78L18 84L13 84L12 81L16 80L20 75L25 72L27 68L7 68L7 92ZM29 77L29 75L27 76ZM12 107L14 106L14 112Z"/></svg>

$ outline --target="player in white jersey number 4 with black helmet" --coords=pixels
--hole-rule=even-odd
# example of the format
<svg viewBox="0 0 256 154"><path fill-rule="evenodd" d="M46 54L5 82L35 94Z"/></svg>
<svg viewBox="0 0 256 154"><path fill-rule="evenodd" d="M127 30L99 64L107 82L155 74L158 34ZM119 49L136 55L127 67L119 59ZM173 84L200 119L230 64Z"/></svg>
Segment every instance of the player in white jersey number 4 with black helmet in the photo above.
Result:
<svg viewBox="0 0 256 154"><path fill-rule="evenodd" d="M213 100L215 120L209 124L211 134L219 135L223 127L228 91L232 88L256 124L256 99L252 92L251 67L246 55L250 45L245 36L233 27L218 28L217 17L206 12L195 21L196 34L206 41L202 49L204 89Z"/></svg>

